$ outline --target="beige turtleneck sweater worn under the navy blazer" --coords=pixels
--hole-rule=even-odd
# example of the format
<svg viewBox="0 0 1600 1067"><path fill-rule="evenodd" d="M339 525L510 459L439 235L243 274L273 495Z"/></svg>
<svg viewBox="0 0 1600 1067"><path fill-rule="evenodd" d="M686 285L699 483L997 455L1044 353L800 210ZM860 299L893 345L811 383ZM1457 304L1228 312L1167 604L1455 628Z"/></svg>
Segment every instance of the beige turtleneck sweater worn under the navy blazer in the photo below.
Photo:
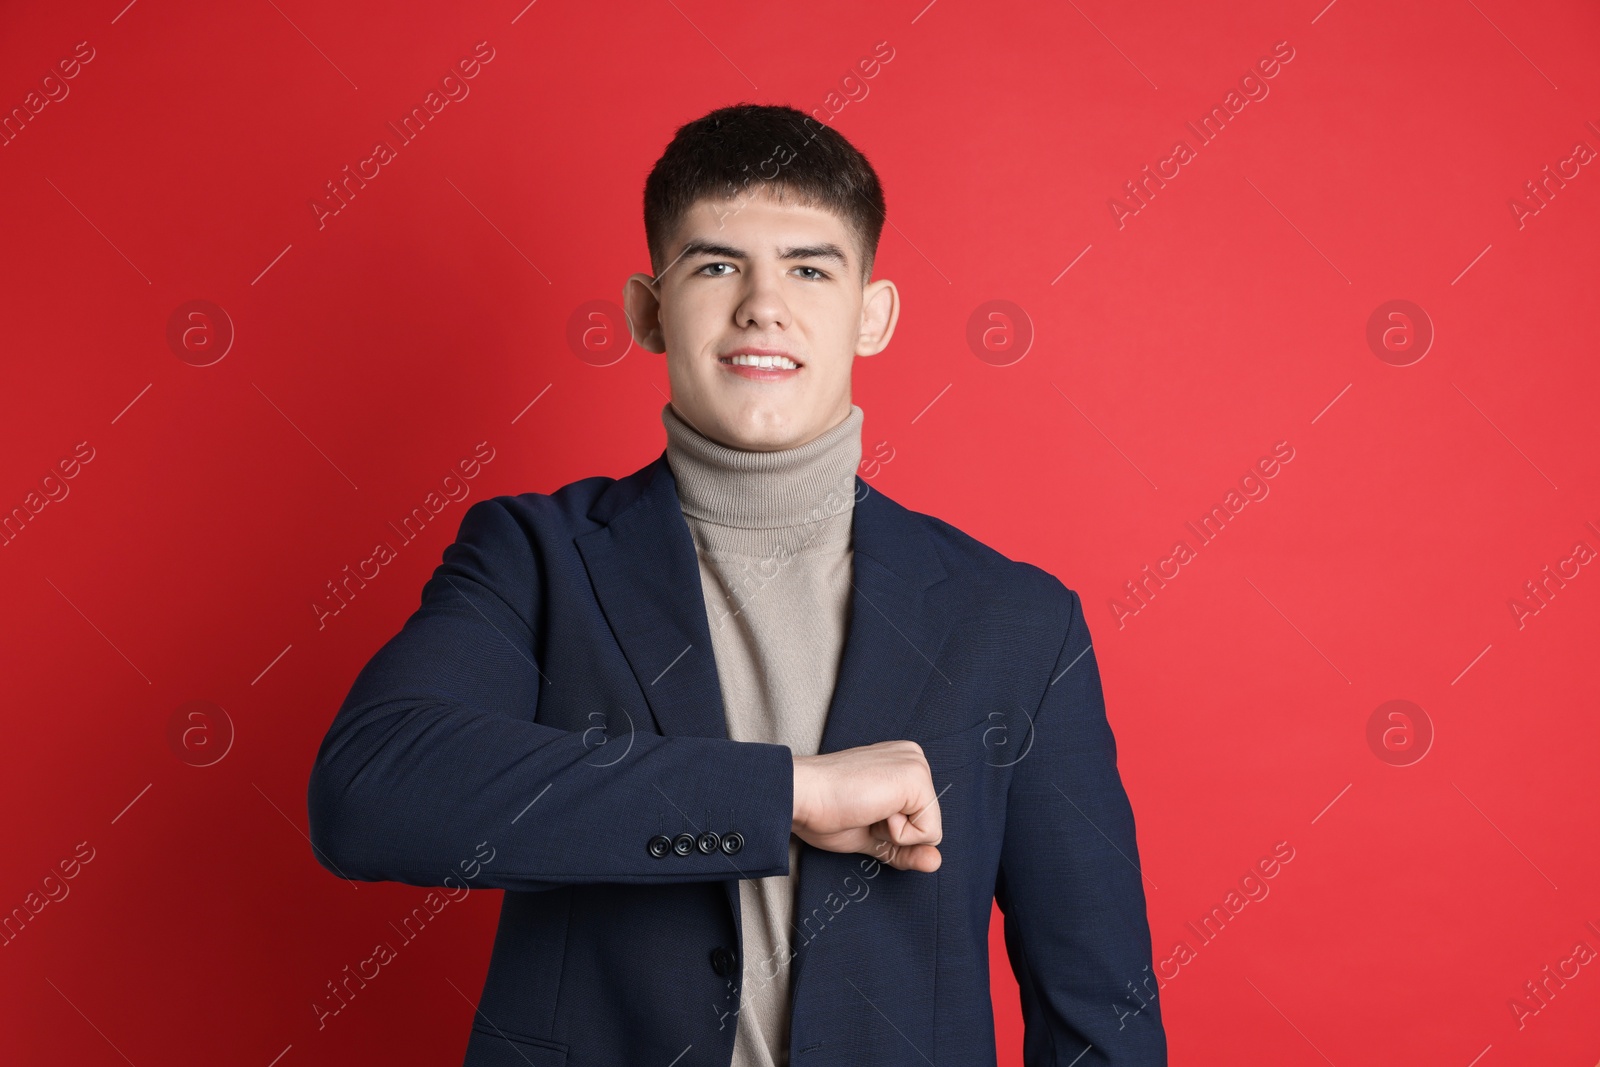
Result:
<svg viewBox="0 0 1600 1067"><path fill-rule="evenodd" d="M797 448L728 448L661 408L667 464L699 555L723 715L734 741L816 755L850 627L851 522L864 413ZM739 881L744 973L731 1067L787 1067L800 838L789 875Z"/></svg>

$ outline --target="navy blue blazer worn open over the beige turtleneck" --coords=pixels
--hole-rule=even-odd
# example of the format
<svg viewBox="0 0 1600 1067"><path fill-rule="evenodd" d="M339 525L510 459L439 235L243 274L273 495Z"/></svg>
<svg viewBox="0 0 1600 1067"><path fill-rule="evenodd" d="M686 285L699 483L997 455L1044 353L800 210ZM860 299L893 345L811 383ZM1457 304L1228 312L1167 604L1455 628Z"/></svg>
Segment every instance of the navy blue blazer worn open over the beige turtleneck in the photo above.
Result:
<svg viewBox="0 0 1600 1067"><path fill-rule="evenodd" d="M506 891L466 1067L726 1067L741 992L786 965L795 1067L995 1064L990 901L1030 1067L1166 1062L1078 595L856 493L821 752L918 742L942 865L802 845L794 960L744 958L738 893L789 873L792 753L728 737L666 453L467 509L307 790L330 872Z"/></svg>

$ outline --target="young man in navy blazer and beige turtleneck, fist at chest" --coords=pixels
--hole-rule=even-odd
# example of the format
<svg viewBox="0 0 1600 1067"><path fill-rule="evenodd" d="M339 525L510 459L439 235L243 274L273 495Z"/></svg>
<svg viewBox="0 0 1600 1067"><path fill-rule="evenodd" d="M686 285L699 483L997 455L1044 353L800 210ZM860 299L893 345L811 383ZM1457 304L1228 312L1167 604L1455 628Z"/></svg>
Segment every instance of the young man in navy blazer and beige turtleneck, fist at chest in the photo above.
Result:
<svg viewBox="0 0 1600 1067"><path fill-rule="evenodd" d="M466 1067L994 1064L992 901L1030 1067L1166 1062L1077 593L856 477L883 218L802 112L678 130L666 451L474 504L323 741L328 870L506 891Z"/></svg>

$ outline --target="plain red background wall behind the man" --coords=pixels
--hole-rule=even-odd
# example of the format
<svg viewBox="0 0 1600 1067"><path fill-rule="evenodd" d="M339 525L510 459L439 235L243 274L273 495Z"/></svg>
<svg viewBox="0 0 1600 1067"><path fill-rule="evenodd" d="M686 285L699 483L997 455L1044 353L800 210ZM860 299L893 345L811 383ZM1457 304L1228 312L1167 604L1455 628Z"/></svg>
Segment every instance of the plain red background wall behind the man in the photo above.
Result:
<svg viewBox="0 0 1600 1067"><path fill-rule="evenodd" d="M70 889L0 949L8 1062L459 1062L498 893L315 1025L426 891L315 864L310 761L469 501L662 448L662 360L570 323L648 269L672 131L741 99L819 109L883 178L904 314L856 371L874 485L1083 597L1157 961L1194 947L1165 966L1173 1062L1600 1059L1600 966L1509 1006L1600 950L1600 568L1509 606L1600 547L1600 165L1510 208L1600 147L1594 5L123 3L0 16L8 114L94 56L0 147L0 507L66 491L0 547L0 910ZM470 94L318 227L478 42ZM1198 147L1184 123L1278 42ZM1118 227L1179 138L1197 157ZM206 366L216 314L168 342L194 299L235 331ZM995 299L1014 333L979 358ZM1366 339L1392 299L1435 331L1406 366ZM325 582L480 442L469 501L318 629ZM1278 442L1270 494L1118 625L1123 582ZM1410 766L1368 742L1392 699L1432 725ZM190 701L216 707L174 739ZM1270 894L1200 944L1278 841Z"/></svg>

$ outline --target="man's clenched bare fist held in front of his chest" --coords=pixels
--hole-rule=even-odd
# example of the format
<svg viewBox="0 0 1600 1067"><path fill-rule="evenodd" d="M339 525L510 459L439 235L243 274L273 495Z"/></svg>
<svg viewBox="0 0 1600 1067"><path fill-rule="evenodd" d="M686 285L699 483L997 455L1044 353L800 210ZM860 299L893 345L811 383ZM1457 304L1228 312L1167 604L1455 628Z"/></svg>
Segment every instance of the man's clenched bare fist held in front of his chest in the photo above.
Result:
<svg viewBox="0 0 1600 1067"><path fill-rule="evenodd" d="M915 741L797 755L794 833L829 853L866 853L899 870L939 869L944 825Z"/></svg>

